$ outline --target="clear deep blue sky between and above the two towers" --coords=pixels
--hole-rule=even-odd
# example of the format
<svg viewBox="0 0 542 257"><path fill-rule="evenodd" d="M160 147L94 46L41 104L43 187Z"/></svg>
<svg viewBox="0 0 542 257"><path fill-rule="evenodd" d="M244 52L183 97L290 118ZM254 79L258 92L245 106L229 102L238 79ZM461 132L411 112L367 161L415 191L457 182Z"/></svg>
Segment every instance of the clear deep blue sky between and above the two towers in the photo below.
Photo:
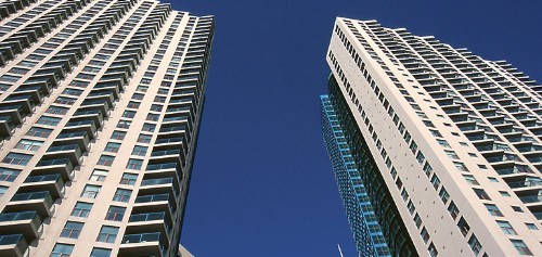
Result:
<svg viewBox="0 0 542 257"><path fill-rule="evenodd" d="M169 0L216 33L181 243L197 257L357 256L320 128L335 16L434 35L542 82L542 1Z"/></svg>

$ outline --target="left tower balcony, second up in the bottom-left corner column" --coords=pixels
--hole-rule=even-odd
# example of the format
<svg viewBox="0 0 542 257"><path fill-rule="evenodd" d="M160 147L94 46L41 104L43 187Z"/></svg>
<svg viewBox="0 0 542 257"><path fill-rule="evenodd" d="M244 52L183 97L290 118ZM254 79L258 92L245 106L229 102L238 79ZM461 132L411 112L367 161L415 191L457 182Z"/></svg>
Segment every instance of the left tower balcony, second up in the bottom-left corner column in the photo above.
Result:
<svg viewBox="0 0 542 257"><path fill-rule="evenodd" d="M22 233L27 242L31 242L41 235L42 220L36 210L0 214L0 234L14 231Z"/></svg>

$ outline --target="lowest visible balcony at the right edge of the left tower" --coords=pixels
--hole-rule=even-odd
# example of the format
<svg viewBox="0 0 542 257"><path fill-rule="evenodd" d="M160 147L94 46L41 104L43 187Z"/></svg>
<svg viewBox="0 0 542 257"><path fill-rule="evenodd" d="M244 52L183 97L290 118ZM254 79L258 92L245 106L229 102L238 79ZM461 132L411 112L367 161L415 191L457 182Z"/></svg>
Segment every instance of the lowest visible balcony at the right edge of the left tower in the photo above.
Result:
<svg viewBox="0 0 542 257"><path fill-rule="evenodd" d="M119 257L133 256L166 256L168 248L164 235L159 232L125 234L122 244L118 250Z"/></svg>

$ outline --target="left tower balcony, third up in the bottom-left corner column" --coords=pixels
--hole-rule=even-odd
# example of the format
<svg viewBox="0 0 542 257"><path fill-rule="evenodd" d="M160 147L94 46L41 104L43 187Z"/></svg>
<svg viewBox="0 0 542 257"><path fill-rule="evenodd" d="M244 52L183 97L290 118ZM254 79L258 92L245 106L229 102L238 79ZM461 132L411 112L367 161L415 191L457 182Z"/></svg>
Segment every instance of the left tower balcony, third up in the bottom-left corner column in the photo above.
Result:
<svg viewBox="0 0 542 257"><path fill-rule="evenodd" d="M54 200L49 191L16 193L5 206L4 213L37 210L41 219L51 217Z"/></svg>

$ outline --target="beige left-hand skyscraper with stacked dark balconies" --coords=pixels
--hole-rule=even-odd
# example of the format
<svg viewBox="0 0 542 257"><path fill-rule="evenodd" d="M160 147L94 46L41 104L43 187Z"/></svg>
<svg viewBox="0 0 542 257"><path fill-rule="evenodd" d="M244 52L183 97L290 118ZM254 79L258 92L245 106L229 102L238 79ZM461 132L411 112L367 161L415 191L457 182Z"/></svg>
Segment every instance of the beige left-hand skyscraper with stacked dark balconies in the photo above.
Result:
<svg viewBox="0 0 542 257"><path fill-rule="evenodd" d="M0 3L0 256L177 256L211 16Z"/></svg>

